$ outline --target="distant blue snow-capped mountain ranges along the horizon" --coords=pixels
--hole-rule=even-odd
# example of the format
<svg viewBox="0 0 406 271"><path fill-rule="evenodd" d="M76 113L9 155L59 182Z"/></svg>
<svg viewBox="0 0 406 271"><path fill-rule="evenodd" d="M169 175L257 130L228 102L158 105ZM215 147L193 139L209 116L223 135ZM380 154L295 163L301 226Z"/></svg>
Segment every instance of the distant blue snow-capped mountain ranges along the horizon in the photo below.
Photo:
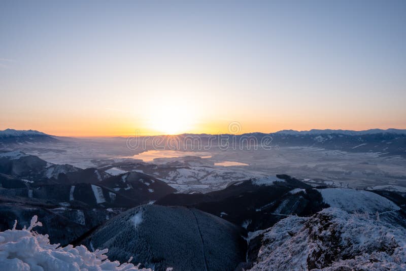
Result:
<svg viewBox="0 0 406 271"><path fill-rule="evenodd" d="M346 152L373 152L381 156L401 156L406 158L406 129L369 129L364 131L352 130L317 130L295 131L282 130L275 133L252 132L245 134L179 134L178 136L163 136L164 140L154 141L154 147L159 144L162 147L168 146L168 141L174 137L179 139L181 150L193 151L199 149L197 144L209 146L210 148L222 147L224 138L228 140L229 147L236 149L248 149L248 145L263 145L263 141L270 144L273 148L279 147L316 147L327 150L339 150ZM193 140L187 139L192 137ZM269 138L270 137L270 138ZM149 137L148 144L153 142ZM166 139L166 140L165 140ZM44 143L58 142L60 137L50 136L49 134L35 130L13 130L6 129L0 131L0 146L23 144L23 143ZM159 143L158 143L159 142ZM160 146L160 145L159 145Z"/></svg>

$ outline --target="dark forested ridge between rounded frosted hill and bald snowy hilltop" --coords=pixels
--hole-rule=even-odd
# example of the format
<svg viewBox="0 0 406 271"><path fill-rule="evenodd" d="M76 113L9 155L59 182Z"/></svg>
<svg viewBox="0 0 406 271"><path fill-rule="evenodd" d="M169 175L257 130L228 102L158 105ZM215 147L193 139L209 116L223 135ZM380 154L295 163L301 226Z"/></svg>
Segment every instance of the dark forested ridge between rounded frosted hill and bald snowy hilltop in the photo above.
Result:
<svg viewBox="0 0 406 271"><path fill-rule="evenodd" d="M327 207L320 192L287 175L236 182L207 194L171 194L155 204L194 207L248 231L268 228L288 215L309 216Z"/></svg>

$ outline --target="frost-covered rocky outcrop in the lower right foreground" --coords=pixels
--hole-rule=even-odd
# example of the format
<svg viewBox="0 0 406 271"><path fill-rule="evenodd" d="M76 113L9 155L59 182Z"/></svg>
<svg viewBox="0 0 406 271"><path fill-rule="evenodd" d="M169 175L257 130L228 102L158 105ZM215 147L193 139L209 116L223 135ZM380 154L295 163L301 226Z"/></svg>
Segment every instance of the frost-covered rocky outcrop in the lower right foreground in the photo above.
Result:
<svg viewBox="0 0 406 271"><path fill-rule="evenodd" d="M406 230L367 214L327 208L262 233L251 270L404 270Z"/></svg>

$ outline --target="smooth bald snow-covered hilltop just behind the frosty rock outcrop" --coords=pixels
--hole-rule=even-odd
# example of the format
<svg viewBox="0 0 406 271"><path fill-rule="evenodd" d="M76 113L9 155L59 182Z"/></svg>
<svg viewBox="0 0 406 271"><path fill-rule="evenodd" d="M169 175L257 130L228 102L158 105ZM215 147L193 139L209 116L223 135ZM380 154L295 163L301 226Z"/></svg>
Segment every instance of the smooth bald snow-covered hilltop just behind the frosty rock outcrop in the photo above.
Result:
<svg viewBox="0 0 406 271"><path fill-rule="evenodd" d="M330 207L340 208L347 212L368 214L396 211L400 208L391 200L374 192L347 188L317 189L323 201Z"/></svg>

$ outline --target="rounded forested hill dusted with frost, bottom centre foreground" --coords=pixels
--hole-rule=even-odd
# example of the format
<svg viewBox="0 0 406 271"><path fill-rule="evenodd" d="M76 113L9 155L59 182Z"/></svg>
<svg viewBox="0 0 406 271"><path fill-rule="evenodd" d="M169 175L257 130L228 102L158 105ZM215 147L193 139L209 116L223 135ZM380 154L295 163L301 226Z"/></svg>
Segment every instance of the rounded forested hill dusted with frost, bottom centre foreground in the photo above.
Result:
<svg viewBox="0 0 406 271"><path fill-rule="evenodd" d="M240 230L196 209L144 205L111 219L84 245L155 270L233 270L245 261Z"/></svg>

